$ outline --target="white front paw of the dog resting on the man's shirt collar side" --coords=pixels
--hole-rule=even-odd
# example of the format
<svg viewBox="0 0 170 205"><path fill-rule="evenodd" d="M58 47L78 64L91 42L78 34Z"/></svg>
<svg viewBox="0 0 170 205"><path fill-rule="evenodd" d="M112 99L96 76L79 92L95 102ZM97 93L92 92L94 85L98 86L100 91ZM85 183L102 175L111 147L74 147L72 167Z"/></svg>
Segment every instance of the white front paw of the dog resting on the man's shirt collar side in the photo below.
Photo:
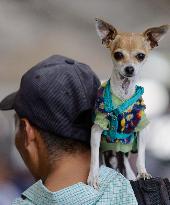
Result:
<svg viewBox="0 0 170 205"><path fill-rule="evenodd" d="M94 189L99 188L99 170L90 171L87 183Z"/></svg>

